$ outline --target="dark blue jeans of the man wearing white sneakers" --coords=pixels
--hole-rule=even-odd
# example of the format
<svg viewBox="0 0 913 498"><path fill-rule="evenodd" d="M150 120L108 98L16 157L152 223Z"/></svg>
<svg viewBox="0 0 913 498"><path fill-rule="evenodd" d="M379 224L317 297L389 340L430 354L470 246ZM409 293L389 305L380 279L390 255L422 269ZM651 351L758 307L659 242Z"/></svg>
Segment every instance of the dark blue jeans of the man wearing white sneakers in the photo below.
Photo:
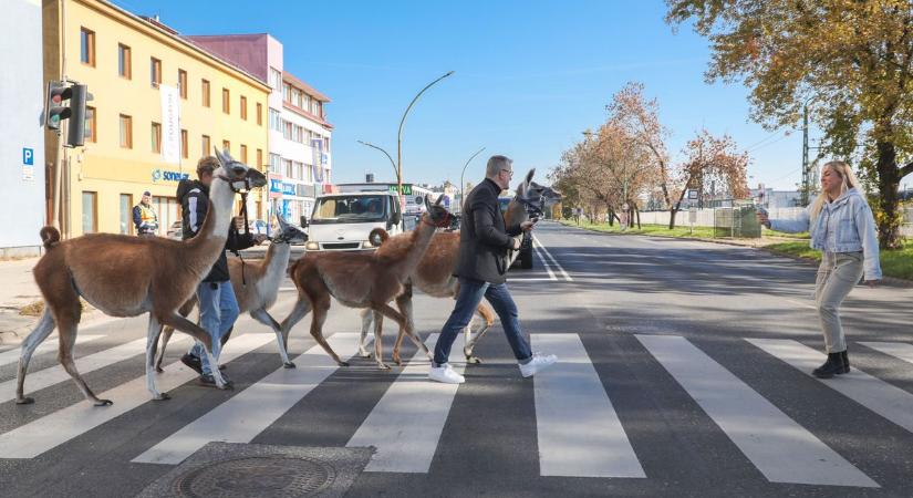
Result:
<svg viewBox="0 0 913 498"><path fill-rule="evenodd" d="M479 305L481 298L491 303L491 308L498 313L501 319L501 326L504 333L507 335L507 342L510 343L510 349L513 350L513 356L520 363L526 363L532 357L532 351L529 349L529 342L520 332L520 320L517 313L517 304L513 303L513 298L510 297L510 291L507 290L506 283L488 283L481 280L459 279L459 294L454 311L450 312L450 318L440 330L440 336L437 339L437 344L434 346L434 363L435 365L443 365L447 363L450 356L450 346L454 345L457 335L466 329L469 321L473 320L473 314Z"/></svg>

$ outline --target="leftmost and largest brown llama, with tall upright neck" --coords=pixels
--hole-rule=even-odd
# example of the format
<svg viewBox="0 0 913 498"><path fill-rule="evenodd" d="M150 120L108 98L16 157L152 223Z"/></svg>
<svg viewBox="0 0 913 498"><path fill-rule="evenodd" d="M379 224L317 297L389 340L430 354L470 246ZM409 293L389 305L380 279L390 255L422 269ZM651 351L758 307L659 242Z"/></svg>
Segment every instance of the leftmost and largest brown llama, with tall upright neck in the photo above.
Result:
<svg viewBox="0 0 913 498"><path fill-rule="evenodd" d="M113 234L91 234L61 240L56 228L44 227L41 238L46 253L38 261L33 273L45 310L34 331L22 343L19 357L15 402L33 403L23 395L25 372L34 349L56 326L60 338L60 363L73 377L83 395L95 406L110 405L89 388L76 371L73 344L80 323L80 297L112 317L138 317L149 313L146 343L146 387L154 400L167 400L155 387L154 353L163 325L173 326L203 342L210 362L210 336L196 323L177 311L197 289L204 277L225 250L236 185L261 187L267 179L260 172L235 160L228 153L216 151L220 167L216 169L209 198L211 207L199 234L185 241L162 237L131 237ZM148 264L155 261L155 266ZM216 364L216 363L212 363ZM219 388L226 383L214 369Z"/></svg>

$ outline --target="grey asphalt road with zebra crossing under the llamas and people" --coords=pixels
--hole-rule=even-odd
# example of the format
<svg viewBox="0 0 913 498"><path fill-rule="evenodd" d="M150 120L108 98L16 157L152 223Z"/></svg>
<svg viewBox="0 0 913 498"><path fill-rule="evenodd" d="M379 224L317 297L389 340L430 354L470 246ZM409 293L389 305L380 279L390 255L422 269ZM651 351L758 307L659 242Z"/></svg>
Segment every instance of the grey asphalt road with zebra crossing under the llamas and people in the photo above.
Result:
<svg viewBox="0 0 913 498"><path fill-rule="evenodd" d="M224 353L235 391L170 365L158 382L173 400L151 402L138 318L81 331L77 365L113 406L82 401L52 350L32 361L35 404L17 406L15 364L0 351L0 495L134 496L207 440L229 440L374 446L354 497L913 496L913 289L857 288L843 308L854 371L819 381L813 267L544 222L537 238L536 269L510 279L533 349L560 356L535 381L497 324L457 388L426 382L421 355L405 369L335 367L313 350L310 318L292 332L299 367L283 371L270 331L243 317ZM293 299L283 292L273 315ZM416 297L423 338L450 305ZM359 329L334 303L325 331L341 355L355 354Z"/></svg>

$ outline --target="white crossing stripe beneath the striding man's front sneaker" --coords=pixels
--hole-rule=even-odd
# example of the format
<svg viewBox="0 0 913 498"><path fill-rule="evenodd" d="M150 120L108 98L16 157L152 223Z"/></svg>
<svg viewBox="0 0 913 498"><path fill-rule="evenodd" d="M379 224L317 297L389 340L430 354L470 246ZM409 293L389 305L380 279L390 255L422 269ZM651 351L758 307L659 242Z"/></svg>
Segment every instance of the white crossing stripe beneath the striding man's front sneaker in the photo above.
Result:
<svg viewBox="0 0 913 498"><path fill-rule="evenodd" d="M577 334L532 334L558 363L533 377L539 474L646 477Z"/></svg>

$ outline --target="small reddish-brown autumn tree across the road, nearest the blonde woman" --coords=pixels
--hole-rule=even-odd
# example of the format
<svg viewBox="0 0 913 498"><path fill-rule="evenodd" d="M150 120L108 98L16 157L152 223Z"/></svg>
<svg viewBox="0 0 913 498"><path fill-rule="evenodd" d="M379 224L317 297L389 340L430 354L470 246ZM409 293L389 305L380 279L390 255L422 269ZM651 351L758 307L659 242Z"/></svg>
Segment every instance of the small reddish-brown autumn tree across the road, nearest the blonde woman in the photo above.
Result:
<svg viewBox="0 0 913 498"><path fill-rule="evenodd" d="M748 153L738 152L735 141L728 135L717 138L706 129L688 141L682 154L686 159L678 165L676 176L681 190L675 205L670 209L668 228L675 228L675 215L682 210L682 201L688 189L702 188L712 181L718 183L734 199L749 196L746 173Z"/></svg>

